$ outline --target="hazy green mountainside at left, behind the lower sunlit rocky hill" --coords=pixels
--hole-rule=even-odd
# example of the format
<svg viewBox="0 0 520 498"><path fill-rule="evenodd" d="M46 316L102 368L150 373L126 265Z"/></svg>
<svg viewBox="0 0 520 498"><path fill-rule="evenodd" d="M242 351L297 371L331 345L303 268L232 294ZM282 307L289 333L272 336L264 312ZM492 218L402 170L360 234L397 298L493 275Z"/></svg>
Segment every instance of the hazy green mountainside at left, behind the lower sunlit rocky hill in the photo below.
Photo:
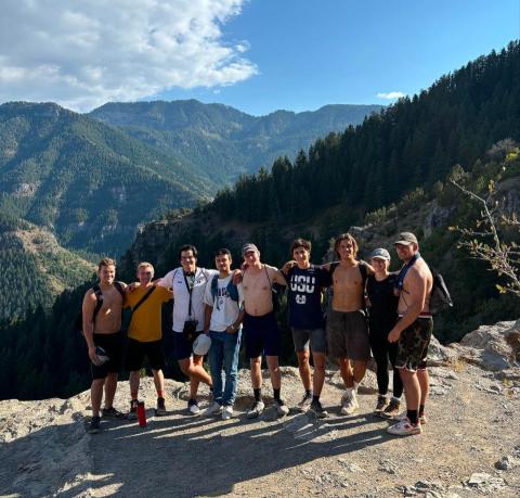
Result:
<svg viewBox="0 0 520 498"><path fill-rule="evenodd" d="M120 253L139 224L212 190L179 162L56 104L0 105L0 213Z"/></svg>

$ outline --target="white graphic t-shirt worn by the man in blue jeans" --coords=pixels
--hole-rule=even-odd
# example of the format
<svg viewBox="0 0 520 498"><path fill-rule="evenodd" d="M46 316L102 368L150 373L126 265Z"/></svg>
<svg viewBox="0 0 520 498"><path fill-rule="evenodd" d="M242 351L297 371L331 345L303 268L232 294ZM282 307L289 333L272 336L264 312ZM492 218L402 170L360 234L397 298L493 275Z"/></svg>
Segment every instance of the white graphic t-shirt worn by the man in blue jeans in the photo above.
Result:
<svg viewBox="0 0 520 498"><path fill-rule="evenodd" d="M244 291L242 289L242 283L237 285L238 289L238 303L233 301L227 292L227 284L230 283L233 274L230 274L225 279L217 280L217 296L213 298L211 293L211 279L206 285L206 293L204 295L204 302L208 306L212 306L213 310L211 312L211 321L209 330L212 332L224 332L227 327L233 324L239 312L240 305L244 303Z"/></svg>

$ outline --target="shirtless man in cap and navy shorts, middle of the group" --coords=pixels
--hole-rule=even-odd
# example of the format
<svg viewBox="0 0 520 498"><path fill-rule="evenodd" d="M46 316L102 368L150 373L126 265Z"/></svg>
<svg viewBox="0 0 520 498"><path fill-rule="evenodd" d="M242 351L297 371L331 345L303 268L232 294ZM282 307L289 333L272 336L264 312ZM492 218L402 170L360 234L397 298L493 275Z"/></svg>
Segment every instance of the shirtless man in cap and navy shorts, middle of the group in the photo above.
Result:
<svg viewBox="0 0 520 498"><path fill-rule="evenodd" d="M247 412L247 418L258 417L264 408L261 395L262 385L262 353L269 367L273 397L276 411L281 416L289 412L288 407L280 397L282 375L280 373L278 355L281 334L274 316L272 285L287 285L282 272L269 265L260 263L260 252L255 244L242 247L244 257L244 334L246 337L246 355L251 368L251 383L255 401Z"/></svg>

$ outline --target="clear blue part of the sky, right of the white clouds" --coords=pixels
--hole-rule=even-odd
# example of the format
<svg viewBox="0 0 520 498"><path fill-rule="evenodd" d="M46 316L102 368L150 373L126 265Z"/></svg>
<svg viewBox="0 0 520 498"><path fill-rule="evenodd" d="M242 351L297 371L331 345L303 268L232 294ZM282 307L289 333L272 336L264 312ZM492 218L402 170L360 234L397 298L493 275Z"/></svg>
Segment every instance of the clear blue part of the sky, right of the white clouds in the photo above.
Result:
<svg viewBox="0 0 520 498"><path fill-rule="evenodd" d="M250 114L384 103L520 38L518 0L251 0L223 26L247 40L258 74L218 89L160 98L222 102Z"/></svg>

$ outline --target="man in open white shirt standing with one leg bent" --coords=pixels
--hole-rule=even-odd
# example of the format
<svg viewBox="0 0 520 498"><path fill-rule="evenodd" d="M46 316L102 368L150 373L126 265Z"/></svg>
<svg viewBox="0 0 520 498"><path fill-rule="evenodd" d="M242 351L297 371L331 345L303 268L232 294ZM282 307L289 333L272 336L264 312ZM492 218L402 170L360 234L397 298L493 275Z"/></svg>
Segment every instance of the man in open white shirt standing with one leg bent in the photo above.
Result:
<svg viewBox="0 0 520 498"><path fill-rule="evenodd" d="M159 285L173 291L173 341L176 359L182 372L190 376L187 409L199 414L197 403L198 384L212 387L211 376L203 367L204 356L193 354L193 342L204 330L204 293L216 270L197 267L197 250L184 245L179 250L181 266L168 272Z"/></svg>

